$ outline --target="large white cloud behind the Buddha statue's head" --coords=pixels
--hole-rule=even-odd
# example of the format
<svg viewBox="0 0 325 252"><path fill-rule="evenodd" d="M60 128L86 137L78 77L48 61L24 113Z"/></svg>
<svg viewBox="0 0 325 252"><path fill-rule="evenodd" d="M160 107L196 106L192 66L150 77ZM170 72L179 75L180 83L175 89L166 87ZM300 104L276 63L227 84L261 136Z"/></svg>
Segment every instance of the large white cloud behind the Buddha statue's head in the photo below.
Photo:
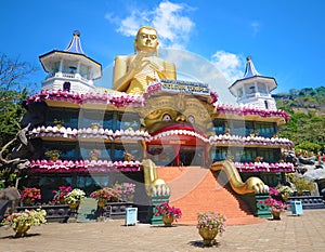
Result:
<svg viewBox="0 0 325 252"><path fill-rule="evenodd" d="M152 10L133 9L127 17L116 17L107 13L105 18L118 25L117 31L125 36L135 36L142 25L157 29L160 47L185 48L190 34L195 26L186 13L194 9L185 3L162 1Z"/></svg>

